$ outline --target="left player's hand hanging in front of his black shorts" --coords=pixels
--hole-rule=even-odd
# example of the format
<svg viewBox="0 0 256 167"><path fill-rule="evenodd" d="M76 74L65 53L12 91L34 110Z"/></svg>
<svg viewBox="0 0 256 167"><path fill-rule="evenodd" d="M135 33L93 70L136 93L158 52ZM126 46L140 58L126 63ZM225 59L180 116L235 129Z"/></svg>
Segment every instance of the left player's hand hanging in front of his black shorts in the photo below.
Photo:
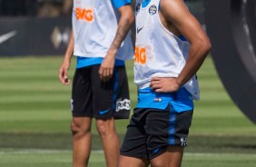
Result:
<svg viewBox="0 0 256 167"><path fill-rule="evenodd" d="M109 81L113 76L114 57L106 55L100 66L99 74L103 82Z"/></svg>

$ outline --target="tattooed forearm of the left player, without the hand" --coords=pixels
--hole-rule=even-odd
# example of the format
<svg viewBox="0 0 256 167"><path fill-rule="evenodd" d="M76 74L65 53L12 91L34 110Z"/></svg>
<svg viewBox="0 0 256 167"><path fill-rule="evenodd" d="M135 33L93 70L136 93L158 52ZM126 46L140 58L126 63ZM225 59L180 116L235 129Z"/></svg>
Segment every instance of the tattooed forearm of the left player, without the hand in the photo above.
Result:
<svg viewBox="0 0 256 167"><path fill-rule="evenodd" d="M117 53L118 48L122 44L126 34L128 34L134 21L133 9L131 5L124 5L118 11L121 14L121 18L118 23L118 28L113 39L113 43L109 49L109 53L113 55Z"/></svg>

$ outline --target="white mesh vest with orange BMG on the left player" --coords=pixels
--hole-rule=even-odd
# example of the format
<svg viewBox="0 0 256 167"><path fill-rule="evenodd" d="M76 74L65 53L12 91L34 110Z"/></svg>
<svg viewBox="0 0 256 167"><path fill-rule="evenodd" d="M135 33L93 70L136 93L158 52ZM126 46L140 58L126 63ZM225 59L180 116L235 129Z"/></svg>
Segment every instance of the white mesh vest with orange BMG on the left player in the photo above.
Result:
<svg viewBox="0 0 256 167"><path fill-rule="evenodd" d="M111 0L74 0L74 55L104 57L113 43L119 18ZM130 33L126 35L115 58L133 58Z"/></svg>

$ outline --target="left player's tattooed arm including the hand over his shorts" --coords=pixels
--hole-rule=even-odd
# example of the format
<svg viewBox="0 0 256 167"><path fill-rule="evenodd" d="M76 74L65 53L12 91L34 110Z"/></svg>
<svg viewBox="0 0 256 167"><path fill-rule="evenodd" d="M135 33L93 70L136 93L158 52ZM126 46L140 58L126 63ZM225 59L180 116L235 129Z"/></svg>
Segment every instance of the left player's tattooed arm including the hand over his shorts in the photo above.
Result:
<svg viewBox="0 0 256 167"><path fill-rule="evenodd" d="M121 15L118 28L113 39L113 43L104 57L103 63L99 70L100 77L103 79L103 81L108 81L112 77L115 55L134 21L133 8L130 4L123 5L122 7L118 8L118 12Z"/></svg>

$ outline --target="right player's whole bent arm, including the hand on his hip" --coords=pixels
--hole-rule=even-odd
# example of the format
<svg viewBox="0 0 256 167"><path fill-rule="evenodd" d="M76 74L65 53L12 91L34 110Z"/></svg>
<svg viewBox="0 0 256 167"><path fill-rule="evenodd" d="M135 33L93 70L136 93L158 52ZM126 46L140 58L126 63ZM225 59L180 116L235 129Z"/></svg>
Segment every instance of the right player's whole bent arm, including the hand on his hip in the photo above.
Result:
<svg viewBox="0 0 256 167"><path fill-rule="evenodd" d="M191 44L186 64L177 78L153 77L151 81L157 93L176 92L196 74L212 46L183 0L161 0L159 15L163 26L172 34L182 34Z"/></svg>

